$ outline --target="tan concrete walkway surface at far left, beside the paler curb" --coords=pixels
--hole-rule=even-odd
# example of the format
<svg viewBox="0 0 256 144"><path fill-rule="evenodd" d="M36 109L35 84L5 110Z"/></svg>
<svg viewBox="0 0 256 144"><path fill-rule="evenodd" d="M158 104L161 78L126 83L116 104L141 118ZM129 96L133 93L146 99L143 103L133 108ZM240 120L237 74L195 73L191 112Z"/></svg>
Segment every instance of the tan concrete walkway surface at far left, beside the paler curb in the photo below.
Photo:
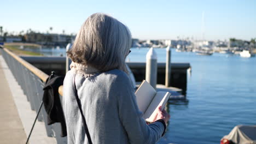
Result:
<svg viewBox="0 0 256 144"><path fill-rule="evenodd" d="M27 136L0 63L0 143L25 143Z"/></svg>

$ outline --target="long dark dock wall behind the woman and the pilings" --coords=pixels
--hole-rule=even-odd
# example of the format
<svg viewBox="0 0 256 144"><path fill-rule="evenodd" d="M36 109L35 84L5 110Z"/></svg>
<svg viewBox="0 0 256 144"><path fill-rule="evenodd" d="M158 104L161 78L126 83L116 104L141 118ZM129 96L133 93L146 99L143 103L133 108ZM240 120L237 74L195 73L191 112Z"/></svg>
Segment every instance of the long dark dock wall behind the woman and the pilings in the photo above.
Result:
<svg viewBox="0 0 256 144"><path fill-rule="evenodd" d="M58 75L66 74L66 57L22 56L22 59L42 70L45 74L55 71ZM146 77L146 62L126 62L131 69L136 82L142 82ZM187 91L187 73L191 69L189 63L171 63L171 87L182 89L182 94ZM157 83L165 85L165 63L158 63Z"/></svg>

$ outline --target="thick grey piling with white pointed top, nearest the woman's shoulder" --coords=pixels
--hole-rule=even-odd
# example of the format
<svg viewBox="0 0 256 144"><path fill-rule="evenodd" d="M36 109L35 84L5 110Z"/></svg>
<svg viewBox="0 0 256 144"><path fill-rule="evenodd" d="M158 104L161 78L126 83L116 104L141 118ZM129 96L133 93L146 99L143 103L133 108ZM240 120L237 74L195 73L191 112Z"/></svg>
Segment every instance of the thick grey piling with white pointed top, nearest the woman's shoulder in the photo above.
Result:
<svg viewBox="0 0 256 144"><path fill-rule="evenodd" d="M158 74L158 57L153 47L151 47L146 56L146 81L156 89L156 80Z"/></svg>

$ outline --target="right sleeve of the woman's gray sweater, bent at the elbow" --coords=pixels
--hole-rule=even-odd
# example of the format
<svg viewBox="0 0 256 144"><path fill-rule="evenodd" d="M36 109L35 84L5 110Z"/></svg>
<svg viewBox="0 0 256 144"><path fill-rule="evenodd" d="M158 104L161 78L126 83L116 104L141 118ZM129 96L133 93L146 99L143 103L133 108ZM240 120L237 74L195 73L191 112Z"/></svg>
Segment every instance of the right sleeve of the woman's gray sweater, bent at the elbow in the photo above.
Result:
<svg viewBox="0 0 256 144"><path fill-rule="evenodd" d="M118 112L131 143L156 143L164 132L161 122L147 124L139 111L134 90L126 74L119 74L115 82Z"/></svg>

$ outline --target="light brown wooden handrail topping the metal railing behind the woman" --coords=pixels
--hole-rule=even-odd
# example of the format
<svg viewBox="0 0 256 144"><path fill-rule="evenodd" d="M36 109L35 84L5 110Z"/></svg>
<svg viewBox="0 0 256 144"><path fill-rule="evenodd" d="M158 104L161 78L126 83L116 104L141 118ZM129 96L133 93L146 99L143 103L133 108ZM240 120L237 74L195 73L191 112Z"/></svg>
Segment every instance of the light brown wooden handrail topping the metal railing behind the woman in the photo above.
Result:
<svg viewBox="0 0 256 144"><path fill-rule="evenodd" d="M38 76L43 82L46 82L49 75L45 74L42 70L34 67L34 65L28 63L24 59L20 58L19 56L15 55L13 52L9 51L6 48L3 48L5 52L7 52L10 56L15 58L18 62L20 62L24 67L30 70L34 75ZM62 86L59 87L59 94L62 96Z"/></svg>

